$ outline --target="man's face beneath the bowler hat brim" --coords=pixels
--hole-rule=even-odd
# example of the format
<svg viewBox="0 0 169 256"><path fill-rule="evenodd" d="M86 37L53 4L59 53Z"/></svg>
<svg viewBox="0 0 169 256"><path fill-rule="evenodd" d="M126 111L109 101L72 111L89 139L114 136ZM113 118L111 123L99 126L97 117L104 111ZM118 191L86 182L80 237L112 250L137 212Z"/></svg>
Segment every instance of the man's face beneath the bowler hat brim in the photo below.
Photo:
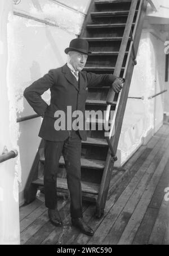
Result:
<svg viewBox="0 0 169 256"><path fill-rule="evenodd" d="M70 64L75 69L75 71L81 71L87 61L87 54L82 54L81 52L72 51L70 54Z"/></svg>

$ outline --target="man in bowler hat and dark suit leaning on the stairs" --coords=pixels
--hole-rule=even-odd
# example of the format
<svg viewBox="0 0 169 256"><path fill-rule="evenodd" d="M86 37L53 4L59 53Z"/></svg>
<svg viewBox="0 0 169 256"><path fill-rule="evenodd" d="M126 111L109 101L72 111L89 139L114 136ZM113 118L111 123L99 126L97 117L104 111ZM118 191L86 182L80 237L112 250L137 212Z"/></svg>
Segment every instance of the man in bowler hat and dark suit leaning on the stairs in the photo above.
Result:
<svg viewBox="0 0 169 256"><path fill-rule="evenodd" d="M122 89L121 80L113 74L94 74L82 71L87 61L88 42L75 38L70 42L65 53L69 61L63 67L52 69L42 78L35 81L24 91L24 96L34 111L43 117L39 136L45 140L45 205L48 217L55 226L61 226L62 220L57 211L56 180L59 158L63 153L67 183L70 193L70 216L72 225L82 233L92 236L94 231L87 226L82 215L81 189L81 141L86 140L85 130L63 129L57 130L55 121L56 111L64 111L65 120L68 116L67 107L73 111L85 111L87 86L113 87L115 92ZM51 103L41 98L46 90L51 91Z"/></svg>

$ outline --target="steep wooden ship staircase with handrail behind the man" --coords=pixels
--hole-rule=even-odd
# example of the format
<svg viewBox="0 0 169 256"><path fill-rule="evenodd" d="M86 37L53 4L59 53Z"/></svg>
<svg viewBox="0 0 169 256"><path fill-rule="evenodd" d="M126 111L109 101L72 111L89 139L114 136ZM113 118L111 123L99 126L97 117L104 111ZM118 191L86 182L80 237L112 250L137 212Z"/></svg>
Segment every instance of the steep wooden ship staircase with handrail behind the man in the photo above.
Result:
<svg viewBox="0 0 169 256"><path fill-rule="evenodd" d="M125 78L123 90L119 94L106 85L88 88L86 110L101 110L108 114L107 120L97 119L96 130L88 130L87 141L82 142L82 197L83 200L95 202L96 217L103 215L106 199L125 173L122 168L115 169L113 165L146 5L146 0L92 0L80 35L88 41L92 52L84 70L98 74L114 73L115 76ZM110 110L114 111L113 119L109 117ZM91 127L92 120L87 122ZM104 129L98 129L100 123L104 122L112 125L106 137ZM34 200L39 186L43 187L44 161L42 140L25 187L26 203ZM59 161L57 191L60 195L68 195L63 156Z"/></svg>

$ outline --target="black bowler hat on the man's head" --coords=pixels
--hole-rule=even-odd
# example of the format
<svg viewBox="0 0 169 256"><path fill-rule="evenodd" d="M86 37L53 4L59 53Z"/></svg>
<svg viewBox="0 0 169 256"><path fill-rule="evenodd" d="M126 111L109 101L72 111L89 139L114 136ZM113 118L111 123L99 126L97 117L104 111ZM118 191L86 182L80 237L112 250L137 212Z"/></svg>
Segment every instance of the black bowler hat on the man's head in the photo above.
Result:
<svg viewBox="0 0 169 256"><path fill-rule="evenodd" d="M65 53L68 54L69 51L79 51L83 54L91 54L91 52L88 51L88 42L82 38L75 38L70 41L69 47L65 48Z"/></svg>

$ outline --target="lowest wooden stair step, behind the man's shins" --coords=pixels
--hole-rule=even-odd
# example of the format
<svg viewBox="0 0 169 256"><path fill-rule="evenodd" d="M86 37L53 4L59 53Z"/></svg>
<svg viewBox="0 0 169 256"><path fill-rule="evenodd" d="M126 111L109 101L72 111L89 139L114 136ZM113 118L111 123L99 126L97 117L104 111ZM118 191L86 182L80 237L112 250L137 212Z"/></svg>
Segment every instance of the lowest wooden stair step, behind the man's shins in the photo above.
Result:
<svg viewBox="0 0 169 256"><path fill-rule="evenodd" d="M43 176L35 179L32 183L37 184L39 186L43 186L43 184L44 184ZM91 194L95 194L95 195L97 195L99 193L100 184L91 183L91 182L83 182L83 181L81 181L81 184L82 184L82 192L91 193ZM57 177L57 190L60 192L60 189L67 190L68 184L67 184L67 180L65 178Z"/></svg>

